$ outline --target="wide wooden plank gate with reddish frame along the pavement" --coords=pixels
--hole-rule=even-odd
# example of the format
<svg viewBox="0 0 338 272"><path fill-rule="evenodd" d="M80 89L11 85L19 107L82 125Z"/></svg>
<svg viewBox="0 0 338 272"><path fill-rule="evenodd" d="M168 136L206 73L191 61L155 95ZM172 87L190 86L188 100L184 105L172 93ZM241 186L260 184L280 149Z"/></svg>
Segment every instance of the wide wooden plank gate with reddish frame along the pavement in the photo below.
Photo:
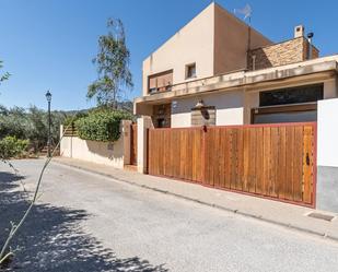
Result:
<svg viewBox="0 0 338 272"><path fill-rule="evenodd" d="M150 129L148 173L314 206L316 123Z"/></svg>

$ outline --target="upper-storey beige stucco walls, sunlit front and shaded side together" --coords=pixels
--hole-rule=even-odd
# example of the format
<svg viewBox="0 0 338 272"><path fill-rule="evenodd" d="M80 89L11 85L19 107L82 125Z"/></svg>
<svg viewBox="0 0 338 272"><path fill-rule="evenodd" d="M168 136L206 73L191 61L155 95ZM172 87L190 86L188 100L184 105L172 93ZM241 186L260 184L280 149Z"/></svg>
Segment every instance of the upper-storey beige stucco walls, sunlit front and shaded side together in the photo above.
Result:
<svg viewBox="0 0 338 272"><path fill-rule="evenodd" d="M196 63L196 79L246 68L248 26L215 3L179 29L143 61L143 95L148 76L173 70L173 84L186 81L186 64ZM252 29L252 48L271 44Z"/></svg>

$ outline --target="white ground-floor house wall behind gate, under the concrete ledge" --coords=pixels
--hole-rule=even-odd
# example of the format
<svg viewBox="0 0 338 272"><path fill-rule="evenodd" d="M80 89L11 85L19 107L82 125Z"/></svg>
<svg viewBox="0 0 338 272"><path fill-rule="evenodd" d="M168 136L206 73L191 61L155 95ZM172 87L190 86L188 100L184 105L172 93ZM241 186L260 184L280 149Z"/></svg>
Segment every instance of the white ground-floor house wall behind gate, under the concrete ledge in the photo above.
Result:
<svg viewBox="0 0 338 272"><path fill-rule="evenodd" d="M215 125L231 126L244 122L244 93L224 92L201 97L177 99L172 108L172 128L186 128L191 126L191 108L202 99L206 106L215 107Z"/></svg>

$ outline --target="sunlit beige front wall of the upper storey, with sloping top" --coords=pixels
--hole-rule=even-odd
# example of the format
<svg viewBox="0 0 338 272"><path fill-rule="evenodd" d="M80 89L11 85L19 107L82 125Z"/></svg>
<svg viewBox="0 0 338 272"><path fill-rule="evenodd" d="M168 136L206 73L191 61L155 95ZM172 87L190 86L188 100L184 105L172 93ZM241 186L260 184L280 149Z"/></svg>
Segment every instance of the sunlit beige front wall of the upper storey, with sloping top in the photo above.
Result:
<svg viewBox="0 0 338 272"><path fill-rule="evenodd" d="M173 69L173 84L182 83L186 64L194 62L197 78L213 74L213 10L212 3L143 61L143 95L150 74Z"/></svg>

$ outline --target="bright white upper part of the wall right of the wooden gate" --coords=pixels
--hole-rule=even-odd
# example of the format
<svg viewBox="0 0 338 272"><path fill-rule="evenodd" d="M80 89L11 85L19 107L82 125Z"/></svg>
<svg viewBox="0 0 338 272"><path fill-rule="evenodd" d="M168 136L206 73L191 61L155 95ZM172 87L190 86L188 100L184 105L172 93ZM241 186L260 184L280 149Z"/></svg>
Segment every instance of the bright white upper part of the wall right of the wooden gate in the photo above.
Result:
<svg viewBox="0 0 338 272"><path fill-rule="evenodd" d="M338 167L338 98L318 102L318 166Z"/></svg>

